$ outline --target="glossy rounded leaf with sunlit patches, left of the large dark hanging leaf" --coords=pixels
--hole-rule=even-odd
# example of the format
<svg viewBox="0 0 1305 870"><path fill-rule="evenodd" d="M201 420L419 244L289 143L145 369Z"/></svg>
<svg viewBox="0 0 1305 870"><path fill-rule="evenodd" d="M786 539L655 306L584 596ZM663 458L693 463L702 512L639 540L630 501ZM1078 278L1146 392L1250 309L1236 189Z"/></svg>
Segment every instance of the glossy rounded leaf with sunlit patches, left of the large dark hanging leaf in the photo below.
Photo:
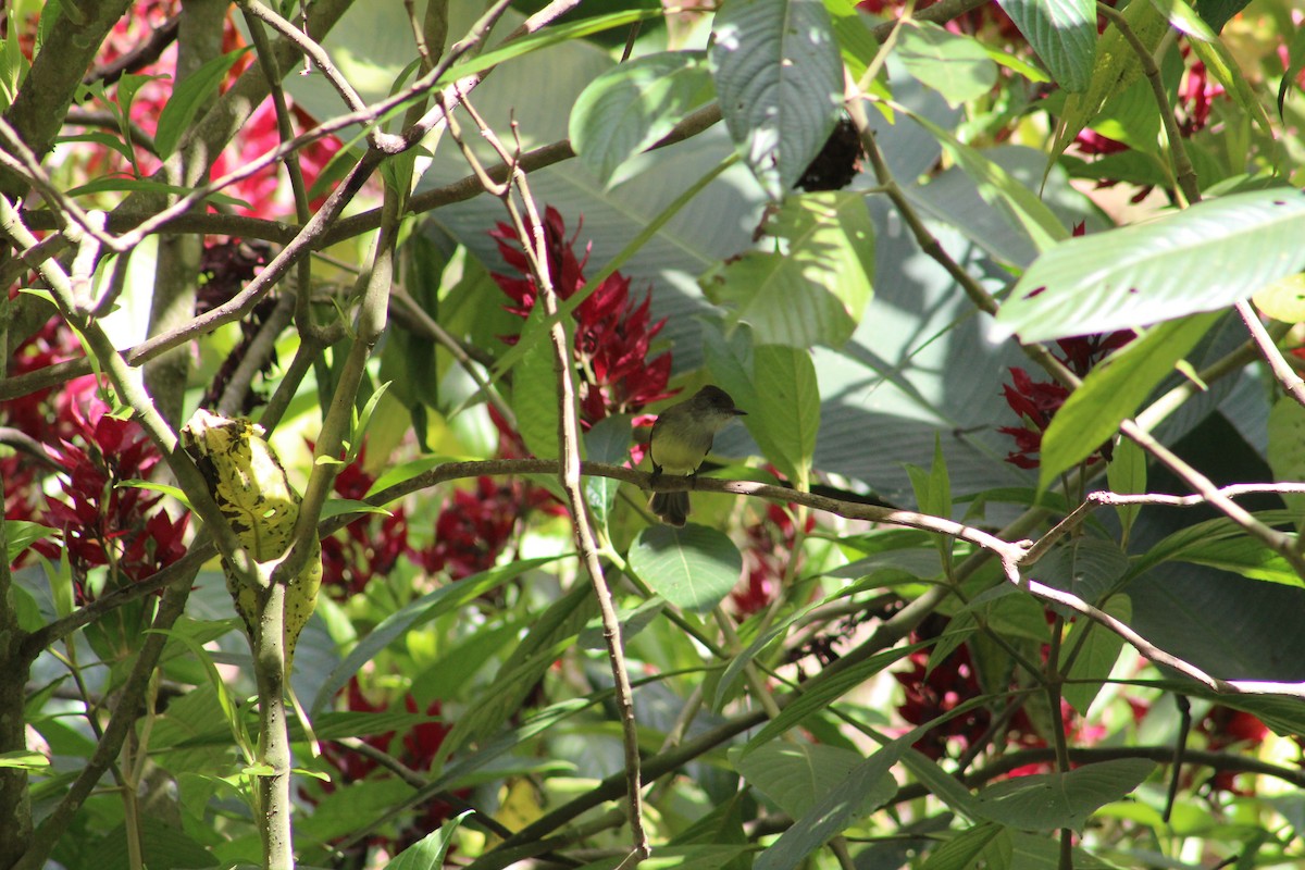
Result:
<svg viewBox="0 0 1305 870"><path fill-rule="evenodd" d="M622 168L711 94L701 51L666 51L620 64L581 93L570 115L572 147L612 187Z"/></svg>

